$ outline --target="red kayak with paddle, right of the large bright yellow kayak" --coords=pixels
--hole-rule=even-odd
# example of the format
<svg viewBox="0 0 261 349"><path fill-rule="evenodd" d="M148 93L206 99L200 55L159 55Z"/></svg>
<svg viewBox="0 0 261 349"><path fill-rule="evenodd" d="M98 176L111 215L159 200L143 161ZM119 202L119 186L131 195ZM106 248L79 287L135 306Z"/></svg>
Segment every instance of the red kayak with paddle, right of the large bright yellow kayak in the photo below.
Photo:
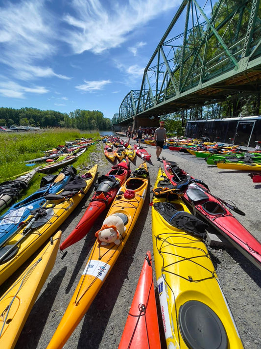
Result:
<svg viewBox="0 0 261 349"><path fill-rule="evenodd" d="M184 192L184 200L214 226L256 267L261 269L261 243L227 209L245 215L233 204L216 197L202 181L194 179L177 164L163 159L164 170L171 183ZM164 184L163 184L164 186Z"/></svg>

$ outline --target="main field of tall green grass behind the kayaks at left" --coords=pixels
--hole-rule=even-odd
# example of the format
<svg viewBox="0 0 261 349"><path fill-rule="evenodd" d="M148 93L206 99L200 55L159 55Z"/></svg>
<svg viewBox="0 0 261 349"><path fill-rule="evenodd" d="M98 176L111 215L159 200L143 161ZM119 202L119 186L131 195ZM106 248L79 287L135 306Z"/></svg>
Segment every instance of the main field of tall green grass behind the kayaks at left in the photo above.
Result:
<svg viewBox="0 0 261 349"><path fill-rule="evenodd" d="M50 129L40 132L0 134L0 183L30 170L24 161L44 156L44 152L65 141L81 137L97 139L98 133L82 134L74 129ZM88 156L89 151L85 152ZM33 167L32 167L33 168Z"/></svg>

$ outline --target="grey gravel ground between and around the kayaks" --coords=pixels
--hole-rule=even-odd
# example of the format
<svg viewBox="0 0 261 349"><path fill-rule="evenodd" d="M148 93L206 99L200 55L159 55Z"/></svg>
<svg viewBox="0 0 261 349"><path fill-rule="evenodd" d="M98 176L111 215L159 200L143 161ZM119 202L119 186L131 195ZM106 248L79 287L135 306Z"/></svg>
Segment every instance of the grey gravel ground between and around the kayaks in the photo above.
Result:
<svg viewBox="0 0 261 349"><path fill-rule="evenodd" d="M134 144L133 140L131 144ZM147 250L153 252L149 203L152 198L151 188L162 162L156 160L155 147L144 147L152 157L148 162L150 184L139 222L136 223L116 265L89 311L64 346L65 349L118 348L145 253ZM108 172L111 164L102 153L101 142L97 143L97 150L98 154L92 154L92 161L88 166L98 163L101 175ZM247 172L219 170L216 166L208 166L203 159L169 150L163 150L161 156L165 156L169 161L178 162L179 166L194 178L203 180L215 195L234 201L238 208L246 213L245 216L235 214L237 219L261 241L261 184L254 184ZM136 158L131 164L131 169L135 169L141 162L140 158ZM61 226L62 240L71 233L85 212L92 190ZM68 248L65 259L61 260L61 255L58 254L55 266L24 325L15 349L47 347L85 267L87 256L95 242L94 233L101 226L105 216L106 212L85 239ZM208 249L245 349L261 348L260 270L233 247L217 249L208 246ZM158 300L157 292L156 297ZM159 322L162 348L166 349L161 318Z"/></svg>

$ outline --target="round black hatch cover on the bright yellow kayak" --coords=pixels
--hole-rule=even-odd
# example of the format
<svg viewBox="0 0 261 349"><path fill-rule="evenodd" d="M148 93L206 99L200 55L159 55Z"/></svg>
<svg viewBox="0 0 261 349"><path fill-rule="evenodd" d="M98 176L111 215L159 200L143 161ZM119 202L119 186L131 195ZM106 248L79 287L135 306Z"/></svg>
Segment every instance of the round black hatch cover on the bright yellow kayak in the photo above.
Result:
<svg viewBox="0 0 261 349"><path fill-rule="evenodd" d="M189 300L179 309L179 327L190 349L227 349L228 339L216 313L198 300Z"/></svg>

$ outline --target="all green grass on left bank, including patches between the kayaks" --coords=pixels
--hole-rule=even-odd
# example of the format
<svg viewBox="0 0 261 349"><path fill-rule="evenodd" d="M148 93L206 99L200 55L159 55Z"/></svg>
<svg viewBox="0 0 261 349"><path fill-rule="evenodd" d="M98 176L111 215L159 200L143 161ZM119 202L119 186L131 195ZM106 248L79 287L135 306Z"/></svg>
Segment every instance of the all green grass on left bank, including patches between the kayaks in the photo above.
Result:
<svg viewBox="0 0 261 349"><path fill-rule="evenodd" d="M98 131L87 131L83 133L80 130L60 128L40 130L34 133L0 133L0 183L37 167L37 165L26 166L24 161L40 158L44 156L46 150L53 149L58 145L64 145L65 141L71 141L81 137L97 140L100 138L100 135ZM79 168L83 164L88 163L89 154L94 149L94 145L88 147L87 151L73 162L72 166ZM53 174L59 173L60 170L58 169ZM35 176L17 201L24 199L40 188L40 182L43 176L46 175L39 173ZM3 213L4 211L1 214Z"/></svg>

